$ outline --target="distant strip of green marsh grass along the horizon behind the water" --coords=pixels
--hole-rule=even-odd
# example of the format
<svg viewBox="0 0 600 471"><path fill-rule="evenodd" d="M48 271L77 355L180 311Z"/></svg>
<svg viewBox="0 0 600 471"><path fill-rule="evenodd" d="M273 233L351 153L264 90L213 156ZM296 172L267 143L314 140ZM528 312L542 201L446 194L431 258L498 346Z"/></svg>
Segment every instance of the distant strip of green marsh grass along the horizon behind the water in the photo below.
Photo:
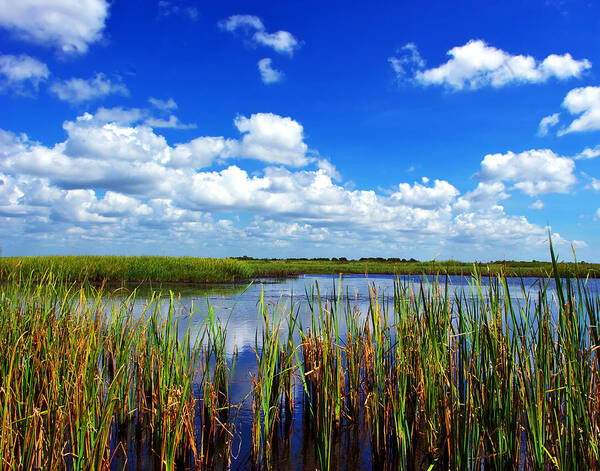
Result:
<svg viewBox="0 0 600 471"><path fill-rule="evenodd" d="M563 275L600 277L600 264L561 263ZM121 257L121 256L52 256L0 258L0 278L11 273L41 278L52 270L65 280L91 282L232 283L260 277L288 277L313 274L398 274L398 275L465 275L474 270L481 275L547 277L552 265L547 262L502 261L467 263L450 261L369 258L346 259L214 259L195 257Z"/></svg>

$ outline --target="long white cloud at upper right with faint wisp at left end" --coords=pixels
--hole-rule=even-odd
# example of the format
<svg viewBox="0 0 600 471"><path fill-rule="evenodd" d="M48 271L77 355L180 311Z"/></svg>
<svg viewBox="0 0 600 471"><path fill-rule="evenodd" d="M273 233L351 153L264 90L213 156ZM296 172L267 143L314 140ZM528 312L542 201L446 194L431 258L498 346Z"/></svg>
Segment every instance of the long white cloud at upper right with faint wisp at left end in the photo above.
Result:
<svg viewBox="0 0 600 471"><path fill-rule="evenodd" d="M550 78L566 80L580 77L592 66L589 60L573 59L569 53L550 54L539 61L532 56L510 54L481 40L471 40L450 49L446 63L425 69L414 44L403 49L402 56L388 59L399 80L412 78L421 85L442 85L453 90L540 83Z"/></svg>

